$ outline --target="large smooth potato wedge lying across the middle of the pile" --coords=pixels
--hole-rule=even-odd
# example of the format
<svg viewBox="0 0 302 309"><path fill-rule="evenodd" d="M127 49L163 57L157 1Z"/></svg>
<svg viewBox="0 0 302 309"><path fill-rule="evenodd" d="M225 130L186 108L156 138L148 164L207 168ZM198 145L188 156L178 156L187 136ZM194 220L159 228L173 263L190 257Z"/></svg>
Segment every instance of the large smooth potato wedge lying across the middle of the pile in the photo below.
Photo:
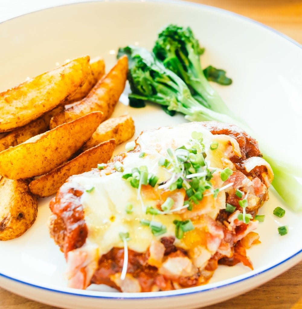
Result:
<svg viewBox="0 0 302 309"><path fill-rule="evenodd" d="M0 152L0 175L20 179L48 173L82 147L102 117L102 112L92 112L3 150Z"/></svg>

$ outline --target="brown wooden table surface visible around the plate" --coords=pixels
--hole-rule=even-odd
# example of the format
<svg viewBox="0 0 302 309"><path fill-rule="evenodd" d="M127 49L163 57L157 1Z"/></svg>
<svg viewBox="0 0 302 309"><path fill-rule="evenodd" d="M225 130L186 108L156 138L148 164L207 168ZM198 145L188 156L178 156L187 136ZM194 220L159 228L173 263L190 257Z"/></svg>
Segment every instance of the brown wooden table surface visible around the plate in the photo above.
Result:
<svg viewBox="0 0 302 309"><path fill-rule="evenodd" d="M217 6L264 23L302 44L302 1L298 0L192 0ZM33 2L33 1L29 1ZM63 1L62 1L63 2ZM9 3L9 2L7 2ZM26 1L27 3L27 1ZM51 3L51 1L49 2ZM28 5L28 3L27 3ZM19 12L18 12L19 13ZM297 239L301 241L301 239ZM206 309L302 309L302 262L266 284ZM0 288L1 309L51 309ZM185 308L185 307L184 307Z"/></svg>

